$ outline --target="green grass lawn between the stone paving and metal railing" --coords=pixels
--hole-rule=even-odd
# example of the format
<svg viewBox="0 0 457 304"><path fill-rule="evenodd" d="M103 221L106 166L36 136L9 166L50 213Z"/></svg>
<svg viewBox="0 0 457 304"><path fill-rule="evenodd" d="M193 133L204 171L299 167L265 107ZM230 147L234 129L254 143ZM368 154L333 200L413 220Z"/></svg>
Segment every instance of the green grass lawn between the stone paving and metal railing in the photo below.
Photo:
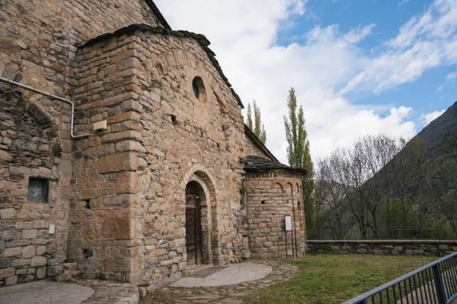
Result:
<svg viewBox="0 0 457 304"><path fill-rule="evenodd" d="M362 254L308 254L287 259L295 278L251 293L245 303L339 304L438 257Z"/></svg>

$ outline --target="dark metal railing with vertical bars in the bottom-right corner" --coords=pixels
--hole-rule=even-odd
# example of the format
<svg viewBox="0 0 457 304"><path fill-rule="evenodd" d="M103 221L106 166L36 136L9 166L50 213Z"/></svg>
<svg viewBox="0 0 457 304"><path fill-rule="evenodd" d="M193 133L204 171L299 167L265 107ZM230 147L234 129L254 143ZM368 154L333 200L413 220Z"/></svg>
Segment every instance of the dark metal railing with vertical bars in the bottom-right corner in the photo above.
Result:
<svg viewBox="0 0 457 304"><path fill-rule="evenodd" d="M457 252L343 304L450 304L457 298Z"/></svg>

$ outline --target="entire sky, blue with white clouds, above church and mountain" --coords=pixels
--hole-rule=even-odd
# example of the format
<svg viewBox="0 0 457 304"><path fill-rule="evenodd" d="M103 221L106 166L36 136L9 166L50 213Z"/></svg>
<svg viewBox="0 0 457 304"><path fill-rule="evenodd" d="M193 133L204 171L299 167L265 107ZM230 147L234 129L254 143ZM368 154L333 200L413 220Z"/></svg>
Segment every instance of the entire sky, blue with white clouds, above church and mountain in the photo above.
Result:
<svg viewBox="0 0 457 304"><path fill-rule="evenodd" d="M457 101L457 0L155 3L172 28L209 38L282 162L291 86L314 160L364 135L410 138Z"/></svg>

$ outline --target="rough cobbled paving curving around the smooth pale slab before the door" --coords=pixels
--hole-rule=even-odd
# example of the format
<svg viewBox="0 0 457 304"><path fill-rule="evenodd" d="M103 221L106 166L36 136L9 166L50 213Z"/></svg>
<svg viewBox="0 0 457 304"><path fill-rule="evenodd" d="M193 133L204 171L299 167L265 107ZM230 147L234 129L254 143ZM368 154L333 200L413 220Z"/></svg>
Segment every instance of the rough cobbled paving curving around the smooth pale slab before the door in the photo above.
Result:
<svg viewBox="0 0 457 304"><path fill-rule="evenodd" d="M233 264L232 266L236 266L236 269L242 269L243 265L246 264L260 264L260 266L263 266L262 269L268 269L268 267L270 267L272 270L263 278L228 286L200 286L194 288L169 286L156 291L153 295L142 298L140 303L241 304L243 303L243 298L245 298L246 295L252 293L258 288L265 288L275 283L287 281L297 274L297 268L295 266L281 261L250 261L248 263ZM222 269L221 271L224 270L225 269ZM210 276L213 275L214 274L211 274Z"/></svg>

